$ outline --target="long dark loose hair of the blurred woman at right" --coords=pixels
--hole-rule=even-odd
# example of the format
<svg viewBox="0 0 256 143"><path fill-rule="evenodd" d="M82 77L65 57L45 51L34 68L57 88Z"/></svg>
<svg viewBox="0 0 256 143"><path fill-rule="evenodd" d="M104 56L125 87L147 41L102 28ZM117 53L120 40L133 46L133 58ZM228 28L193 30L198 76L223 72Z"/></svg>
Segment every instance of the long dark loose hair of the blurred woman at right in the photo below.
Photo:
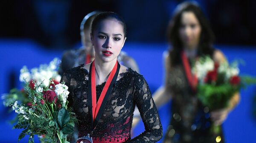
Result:
<svg viewBox="0 0 256 143"><path fill-rule="evenodd" d="M214 34L210 28L207 18L204 16L203 11L195 2L183 2L175 9L175 13L172 17L172 20L169 22L167 30L168 42L172 45L172 50L170 50L172 65L180 63L180 52L183 50L183 45L179 36L179 28L181 25L181 15L185 11L189 11L195 14L195 17L198 19L202 29L200 41L198 43L198 55L212 56L214 51L212 48Z"/></svg>

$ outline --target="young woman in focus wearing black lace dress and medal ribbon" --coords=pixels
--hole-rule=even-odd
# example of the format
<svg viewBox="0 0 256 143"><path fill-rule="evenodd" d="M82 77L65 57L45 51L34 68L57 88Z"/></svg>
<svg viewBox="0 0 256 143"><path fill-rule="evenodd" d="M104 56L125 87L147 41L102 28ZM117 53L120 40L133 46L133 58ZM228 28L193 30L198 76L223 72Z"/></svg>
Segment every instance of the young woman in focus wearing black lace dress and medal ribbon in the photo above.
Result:
<svg viewBox="0 0 256 143"><path fill-rule="evenodd" d="M125 22L113 12L101 13L93 20L90 35L94 61L67 70L62 77L77 115L79 137L92 137L93 143L157 142L162 126L148 84L117 61L126 40ZM135 105L145 132L131 139Z"/></svg>

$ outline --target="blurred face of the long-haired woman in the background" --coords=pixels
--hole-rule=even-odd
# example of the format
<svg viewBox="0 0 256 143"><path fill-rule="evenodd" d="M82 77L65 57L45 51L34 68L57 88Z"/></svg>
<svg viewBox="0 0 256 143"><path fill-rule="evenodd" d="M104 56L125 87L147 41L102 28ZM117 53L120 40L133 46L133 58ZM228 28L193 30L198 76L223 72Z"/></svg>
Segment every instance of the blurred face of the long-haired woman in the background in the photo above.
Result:
<svg viewBox="0 0 256 143"><path fill-rule="evenodd" d="M197 48L201 25L193 12L185 11L181 14L179 35L184 48Z"/></svg>

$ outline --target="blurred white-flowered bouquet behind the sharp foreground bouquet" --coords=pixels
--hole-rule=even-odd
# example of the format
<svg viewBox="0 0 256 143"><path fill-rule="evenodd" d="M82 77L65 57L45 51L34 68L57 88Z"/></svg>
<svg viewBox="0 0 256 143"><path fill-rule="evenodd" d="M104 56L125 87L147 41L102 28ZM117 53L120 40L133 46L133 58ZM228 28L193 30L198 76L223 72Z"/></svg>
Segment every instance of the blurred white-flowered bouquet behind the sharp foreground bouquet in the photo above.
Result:
<svg viewBox="0 0 256 143"><path fill-rule="evenodd" d="M32 68L30 71L26 66L20 70L20 81L24 84L25 82L30 82L29 86L33 89L36 83L43 84L46 87L54 89L54 85L60 83L61 76L58 74L57 67L59 60L57 58L53 59L49 64L41 64L39 68ZM49 81L49 79L52 79ZM23 80L25 79L25 80ZM52 84L52 81L54 84ZM14 104L15 101L20 101L20 103L27 104L27 93L24 89L14 88L10 93L2 95L3 104L9 107L10 104Z"/></svg>

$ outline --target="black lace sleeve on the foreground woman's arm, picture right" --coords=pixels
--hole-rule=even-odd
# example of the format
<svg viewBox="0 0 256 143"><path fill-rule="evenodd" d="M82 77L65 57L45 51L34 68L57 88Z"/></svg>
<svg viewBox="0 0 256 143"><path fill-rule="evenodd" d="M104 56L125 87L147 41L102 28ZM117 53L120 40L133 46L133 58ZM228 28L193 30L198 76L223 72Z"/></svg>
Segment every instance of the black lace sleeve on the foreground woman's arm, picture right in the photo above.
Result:
<svg viewBox="0 0 256 143"><path fill-rule="evenodd" d="M134 81L135 102L140 111L145 131L127 143L156 143L163 136L163 129L148 84L143 76Z"/></svg>

